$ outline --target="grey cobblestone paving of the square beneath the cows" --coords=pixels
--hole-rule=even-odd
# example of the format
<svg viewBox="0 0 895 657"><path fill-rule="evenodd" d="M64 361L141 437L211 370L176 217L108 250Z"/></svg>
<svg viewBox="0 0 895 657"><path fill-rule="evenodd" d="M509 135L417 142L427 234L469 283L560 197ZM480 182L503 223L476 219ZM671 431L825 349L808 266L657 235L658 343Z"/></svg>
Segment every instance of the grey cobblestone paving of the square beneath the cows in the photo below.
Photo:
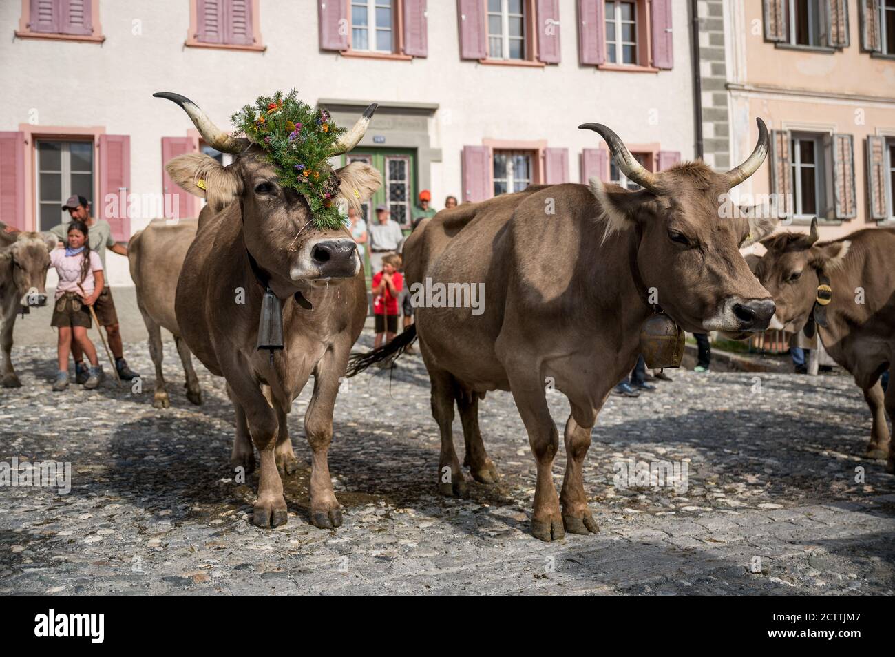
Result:
<svg viewBox="0 0 895 657"><path fill-rule="evenodd" d="M364 334L362 344L369 346ZM151 371L145 345L127 348ZM0 593L892 593L895 478L862 458L870 430L845 376L689 371L657 392L611 397L593 431L585 490L601 533L558 542L528 531L534 465L507 393L482 405L502 478L469 499L435 486L439 438L418 355L339 396L330 467L345 525L309 524L309 448L286 482L287 525L250 523L254 477L237 484L222 380L173 407L106 383L50 391L54 350L16 348L23 388L0 389L0 460L69 461L72 491L0 488ZM567 402L551 395L560 427ZM455 427L462 456L459 419ZM620 459L686 462L688 488L622 490ZM562 448L554 473L561 482ZM864 482L856 482L856 468ZM758 558L758 559L755 559ZM753 572L758 570L759 572Z"/></svg>

